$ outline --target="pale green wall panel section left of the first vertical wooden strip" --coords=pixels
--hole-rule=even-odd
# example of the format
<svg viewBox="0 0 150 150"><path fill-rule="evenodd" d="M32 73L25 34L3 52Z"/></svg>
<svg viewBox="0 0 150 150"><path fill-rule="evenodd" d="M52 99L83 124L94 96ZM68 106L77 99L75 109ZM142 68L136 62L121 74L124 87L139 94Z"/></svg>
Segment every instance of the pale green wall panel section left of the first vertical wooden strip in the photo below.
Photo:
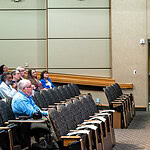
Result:
<svg viewBox="0 0 150 150"><path fill-rule="evenodd" d="M0 64L46 68L46 3L0 0Z"/></svg>

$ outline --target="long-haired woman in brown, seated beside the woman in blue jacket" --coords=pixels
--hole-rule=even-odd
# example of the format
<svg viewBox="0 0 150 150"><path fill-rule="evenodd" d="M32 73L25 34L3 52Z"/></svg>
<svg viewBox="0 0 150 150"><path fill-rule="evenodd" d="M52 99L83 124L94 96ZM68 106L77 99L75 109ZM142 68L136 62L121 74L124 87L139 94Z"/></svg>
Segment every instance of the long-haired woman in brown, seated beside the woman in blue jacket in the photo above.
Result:
<svg viewBox="0 0 150 150"><path fill-rule="evenodd" d="M27 78L31 81L31 84L35 86L35 91L40 91L41 89L43 89L42 83L37 79L37 73L35 69L28 70Z"/></svg>

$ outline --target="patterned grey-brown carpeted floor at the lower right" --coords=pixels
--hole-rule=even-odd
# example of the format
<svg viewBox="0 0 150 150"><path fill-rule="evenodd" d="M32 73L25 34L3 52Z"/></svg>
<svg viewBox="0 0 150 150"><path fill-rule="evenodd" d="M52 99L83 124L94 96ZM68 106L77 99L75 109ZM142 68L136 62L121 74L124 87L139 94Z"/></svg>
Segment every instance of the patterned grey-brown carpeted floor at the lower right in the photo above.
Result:
<svg viewBox="0 0 150 150"><path fill-rule="evenodd" d="M150 150L150 112L136 112L127 129L115 129L113 150Z"/></svg>

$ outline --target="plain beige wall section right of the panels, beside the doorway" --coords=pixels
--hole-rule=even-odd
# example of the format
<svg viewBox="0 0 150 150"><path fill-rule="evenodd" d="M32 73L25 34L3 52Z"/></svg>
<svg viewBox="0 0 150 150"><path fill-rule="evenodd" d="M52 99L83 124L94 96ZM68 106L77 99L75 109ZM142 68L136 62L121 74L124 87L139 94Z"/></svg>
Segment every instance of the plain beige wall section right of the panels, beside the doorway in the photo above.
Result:
<svg viewBox="0 0 150 150"><path fill-rule="evenodd" d="M136 106L147 107L148 42L140 44L146 39L146 7L146 0L112 0L112 75L133 83Z"/></svg>

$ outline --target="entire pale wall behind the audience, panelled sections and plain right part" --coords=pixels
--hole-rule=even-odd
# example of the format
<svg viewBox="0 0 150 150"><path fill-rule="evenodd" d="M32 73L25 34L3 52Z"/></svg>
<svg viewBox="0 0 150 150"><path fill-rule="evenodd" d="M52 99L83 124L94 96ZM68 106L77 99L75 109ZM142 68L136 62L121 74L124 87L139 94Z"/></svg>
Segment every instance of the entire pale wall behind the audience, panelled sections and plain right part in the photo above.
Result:
<svg viewBox="0 0 150 150"><path fill-rule="evenodd" d="M28 63L29 67L46 68L45 2L0 0L0 64L15 68ZM112 77L116 82L133 83L131 92L135 95L136 106L146 107L148 44L142 46L139 41L150 38L150 0L111 2ZM48 0L48 16L53 13L48 18L49 71L110 77L109 12L109 0ZM59 15L63 20L59 20ZM68 22L64 22L64 18ZM137 71L136 75L133 70ZM93 92L93 95L107 103L104 94Z"/></svg>

